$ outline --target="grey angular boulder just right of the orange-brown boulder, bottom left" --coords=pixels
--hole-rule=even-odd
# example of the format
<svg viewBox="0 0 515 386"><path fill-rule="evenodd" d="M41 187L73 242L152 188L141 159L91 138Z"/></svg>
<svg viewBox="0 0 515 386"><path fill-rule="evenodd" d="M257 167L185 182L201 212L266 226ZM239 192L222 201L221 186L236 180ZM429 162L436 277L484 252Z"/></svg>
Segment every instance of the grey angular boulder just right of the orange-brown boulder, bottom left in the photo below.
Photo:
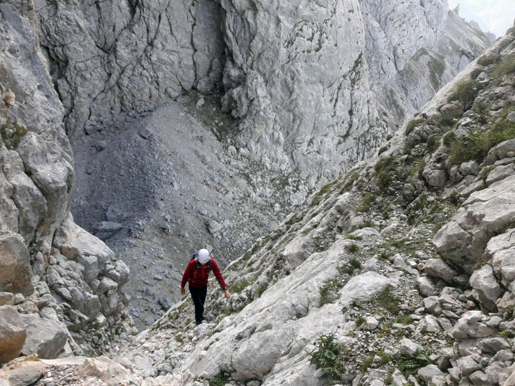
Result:
<svg viewBox="0 0 515 386"><path fill-rule="evenodd" d="M56 320L43 319L36 314L20 315L27 331L22 354L38 354L42 359L56 358L68 338L66 328Z"/></svg>

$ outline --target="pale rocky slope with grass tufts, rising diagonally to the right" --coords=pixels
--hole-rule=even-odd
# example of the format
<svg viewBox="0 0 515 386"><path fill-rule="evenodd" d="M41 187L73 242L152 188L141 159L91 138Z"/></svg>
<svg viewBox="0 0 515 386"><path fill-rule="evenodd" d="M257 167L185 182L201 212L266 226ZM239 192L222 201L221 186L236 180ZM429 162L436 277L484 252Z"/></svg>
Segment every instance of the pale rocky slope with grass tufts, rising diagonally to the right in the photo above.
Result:
<svg viewBox="0 0 515 386"><path fill-rule="evenodd" d="M134 337L114 358L126 382L515 384L514 57L512 29L233 261L210 323L185 299ZM119 384L95 361L59 368Z"/></svg>

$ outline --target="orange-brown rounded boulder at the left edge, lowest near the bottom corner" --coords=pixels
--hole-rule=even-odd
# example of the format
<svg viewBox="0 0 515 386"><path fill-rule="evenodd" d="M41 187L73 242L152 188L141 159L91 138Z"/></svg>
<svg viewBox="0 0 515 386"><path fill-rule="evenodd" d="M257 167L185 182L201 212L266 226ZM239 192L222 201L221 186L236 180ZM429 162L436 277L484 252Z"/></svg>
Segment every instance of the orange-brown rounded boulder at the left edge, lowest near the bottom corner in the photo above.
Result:
<svg viewBox="0 0 515 386"><path fill-rule="evenodd" d="M0 306L0 363L20 355L26 336L18 311L11 306Z"/></svg>

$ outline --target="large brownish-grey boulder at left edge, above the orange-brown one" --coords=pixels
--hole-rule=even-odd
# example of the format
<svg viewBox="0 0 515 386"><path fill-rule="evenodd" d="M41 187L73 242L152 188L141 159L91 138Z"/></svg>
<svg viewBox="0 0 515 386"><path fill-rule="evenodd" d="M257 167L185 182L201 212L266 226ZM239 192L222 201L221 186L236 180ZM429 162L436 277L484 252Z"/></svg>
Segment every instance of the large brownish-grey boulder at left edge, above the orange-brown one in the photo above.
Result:
<svg viewBox="0 0 515 386"><path fill-rule="evenodd" d="M0 234L0 291L30 295L32 269L23 237L15 233Z"/></svg>

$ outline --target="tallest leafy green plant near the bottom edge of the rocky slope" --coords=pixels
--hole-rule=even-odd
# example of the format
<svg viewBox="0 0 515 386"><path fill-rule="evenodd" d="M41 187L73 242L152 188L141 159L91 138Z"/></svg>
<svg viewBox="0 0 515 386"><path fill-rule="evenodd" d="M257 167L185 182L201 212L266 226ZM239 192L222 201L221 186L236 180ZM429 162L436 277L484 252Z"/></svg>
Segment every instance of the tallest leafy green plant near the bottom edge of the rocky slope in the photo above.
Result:
<svg viewBox="0 0 515 386"><path fill-rule="evenodd" d="M309 353L311 356L311 364L316 365L317 369L324 371L322 377L327 379L329 384L338 383L341 375L344 374L346 370L341 358L342 348L341 345L336 342L335 335L321 335L314 345L315 348Z"/></svg>

